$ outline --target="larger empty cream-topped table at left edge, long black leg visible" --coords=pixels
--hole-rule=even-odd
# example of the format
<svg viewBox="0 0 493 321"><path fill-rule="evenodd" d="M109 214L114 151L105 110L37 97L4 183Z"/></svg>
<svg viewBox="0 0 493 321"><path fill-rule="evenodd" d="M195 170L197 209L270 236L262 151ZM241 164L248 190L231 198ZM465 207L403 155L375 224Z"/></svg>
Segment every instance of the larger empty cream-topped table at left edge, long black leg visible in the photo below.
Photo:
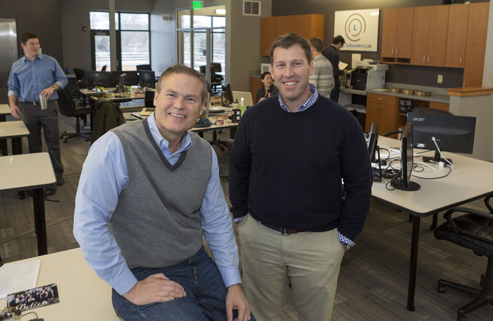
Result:
<svg viewBox="0 0 493 321"><path fill-rule="evenodd" d="M48 253L43 188L56 182L47 152L0 157L0 193L32 190L38 255Z"/></svg>

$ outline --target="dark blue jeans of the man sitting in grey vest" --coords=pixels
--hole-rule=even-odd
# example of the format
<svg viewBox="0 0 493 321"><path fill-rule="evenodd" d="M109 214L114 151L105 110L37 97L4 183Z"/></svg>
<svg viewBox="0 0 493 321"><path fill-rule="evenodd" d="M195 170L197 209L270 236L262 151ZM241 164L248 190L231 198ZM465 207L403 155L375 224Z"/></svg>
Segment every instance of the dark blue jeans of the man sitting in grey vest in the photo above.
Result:
<svg viewBox="0 0 493 321"><path fill-rule="evenodd" d="M183 286L187 296L165 303L135 305L113 289L113 308L124 320L227 320L227 289L216 263L208 256L204 247L192 258L177 265L160 269L137 267L132 269L132 273L139 281L151 274L163 273L170 280ZM235 317L237 311L233 310L233 319ZM251 320L255 320L254 317Z"/></svg>

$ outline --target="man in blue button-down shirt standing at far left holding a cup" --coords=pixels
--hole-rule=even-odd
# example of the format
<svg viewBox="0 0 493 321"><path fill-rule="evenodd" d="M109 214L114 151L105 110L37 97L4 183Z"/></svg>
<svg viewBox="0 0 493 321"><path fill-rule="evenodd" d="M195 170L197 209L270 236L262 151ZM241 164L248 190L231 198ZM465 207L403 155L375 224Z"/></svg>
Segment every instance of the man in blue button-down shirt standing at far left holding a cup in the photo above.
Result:
<svg viewBox="0 0 493 321"><path fill-rule="evenodd" d="M30 153L42 151L43 128L44 142L53 164L56 183L63 185L56 90L65 87L68 79L56 59L39 52L37 35L26 32L20 36L20 47L23 47L24 56L13 63L8 77L8 103L11 114L17 119L22 118L29 130L27 142ZM42 109L39 104L40 95L48 101L46 109Z"/></svg>

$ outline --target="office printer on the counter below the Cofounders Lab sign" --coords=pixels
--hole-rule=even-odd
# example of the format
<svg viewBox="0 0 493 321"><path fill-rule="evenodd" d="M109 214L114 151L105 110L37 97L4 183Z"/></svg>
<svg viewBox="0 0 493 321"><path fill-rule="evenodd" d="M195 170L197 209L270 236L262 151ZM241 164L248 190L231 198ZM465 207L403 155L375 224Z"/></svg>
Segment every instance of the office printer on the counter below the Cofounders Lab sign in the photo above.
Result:
<svg viewBox="0 0 493 321"><path fill-rule="evenodd" d="M385 89L385 71L388 69L388 65L381 65L375 61L358 61L351 71L350 89Z"/></svg>

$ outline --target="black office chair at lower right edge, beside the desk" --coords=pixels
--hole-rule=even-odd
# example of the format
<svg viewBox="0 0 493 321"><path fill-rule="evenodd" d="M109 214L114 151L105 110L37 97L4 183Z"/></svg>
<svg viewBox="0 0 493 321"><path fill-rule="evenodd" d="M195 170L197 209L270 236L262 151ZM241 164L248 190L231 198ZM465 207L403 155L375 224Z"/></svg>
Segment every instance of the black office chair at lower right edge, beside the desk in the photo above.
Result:
<svg viewBox="0 0 493 321"><path fill-rule="evenodd" d="M435 229L435 237L439 240L456 243L473 250L475 255L488 258L486 274L481 275L480 289L442 279L438 281L437 291L440 293L445 293L449 287L476 296L473 301L458 309L457 321L468 320L466 313L483 305L493 305L493 207L489 204L492 197L493 195L490 195L485 198L485 205L489 213L466 207L456 207L444 214L444 219L447 219L447 222ZM452 218L451 216L455 212L467 214Z"/></svg>

